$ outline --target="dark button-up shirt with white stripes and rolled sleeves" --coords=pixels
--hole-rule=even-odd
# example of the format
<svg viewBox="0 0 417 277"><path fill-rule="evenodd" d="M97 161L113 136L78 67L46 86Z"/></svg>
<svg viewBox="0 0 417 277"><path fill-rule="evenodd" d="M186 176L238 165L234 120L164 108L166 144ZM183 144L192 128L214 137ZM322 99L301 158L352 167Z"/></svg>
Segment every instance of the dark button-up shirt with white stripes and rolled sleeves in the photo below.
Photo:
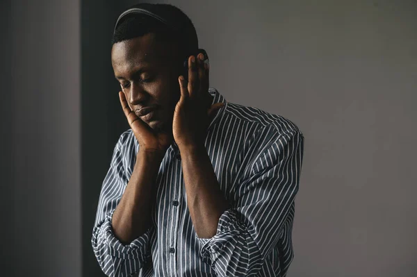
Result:
<svg viewBox="0 0 417 277"><path fill-rule="evenodd" d="M117 142L101 187L92 248L108 276L285 276L293 260L291 232L304 137L291 121L257 108L224 103L208 126L206 150L231 208L217 233L195 233L175 143L156 178L152 226L128 245L111 227L139 145L131 129Z"/></svg>

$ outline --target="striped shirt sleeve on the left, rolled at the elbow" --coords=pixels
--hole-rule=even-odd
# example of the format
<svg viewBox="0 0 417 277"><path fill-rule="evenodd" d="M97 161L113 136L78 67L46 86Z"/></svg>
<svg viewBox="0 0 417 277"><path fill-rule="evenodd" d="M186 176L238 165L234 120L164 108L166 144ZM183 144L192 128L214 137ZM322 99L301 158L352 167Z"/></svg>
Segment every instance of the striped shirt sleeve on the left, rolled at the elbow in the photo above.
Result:
<svg viewBox="0 0 417 277"><path fill-rule="evenodd" d="M113 212L128 183L120 151L122 137L115 146L111 166L101 187L91 239L97 261L107 276L133 276L150 257L150 228L130 244L124 245L115 237L111 225Z"/></svg>

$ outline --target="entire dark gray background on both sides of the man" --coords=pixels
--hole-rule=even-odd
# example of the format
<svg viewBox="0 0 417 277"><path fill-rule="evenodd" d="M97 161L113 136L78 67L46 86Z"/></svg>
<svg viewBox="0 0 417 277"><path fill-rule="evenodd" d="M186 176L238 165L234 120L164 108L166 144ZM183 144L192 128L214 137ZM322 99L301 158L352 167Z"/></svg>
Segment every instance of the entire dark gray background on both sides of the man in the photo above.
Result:
<svg viewBox="0 0 417 277"><path fill-rule="evenodd" d="M288 277L417 276L416 1L164 1L228 101L305 135ZM127 128L110 60L136 1L1 1L1 271L102 276L90 237Z"/></svg>

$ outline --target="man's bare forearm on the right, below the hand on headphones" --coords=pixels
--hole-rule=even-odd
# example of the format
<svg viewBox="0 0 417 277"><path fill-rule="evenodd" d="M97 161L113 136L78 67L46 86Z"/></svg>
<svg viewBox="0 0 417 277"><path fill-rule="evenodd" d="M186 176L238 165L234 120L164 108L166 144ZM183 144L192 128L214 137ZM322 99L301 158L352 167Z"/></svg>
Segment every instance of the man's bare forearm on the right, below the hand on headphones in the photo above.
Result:
<svg viewBox="0 0 417 277"><path fill-rule="evenodd" d="M198 237L216 233L222 213L229 208L204 145L180 149L190 217Z"/></svg>

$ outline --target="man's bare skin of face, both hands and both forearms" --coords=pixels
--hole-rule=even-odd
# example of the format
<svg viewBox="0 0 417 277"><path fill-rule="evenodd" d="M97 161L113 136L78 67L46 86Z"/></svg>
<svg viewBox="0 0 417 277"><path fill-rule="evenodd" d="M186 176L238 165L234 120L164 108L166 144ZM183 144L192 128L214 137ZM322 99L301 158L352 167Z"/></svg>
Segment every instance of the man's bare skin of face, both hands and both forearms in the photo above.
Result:
<svg viewBox="0 0 417 277"><path fill-rule="evenodd" d="M124 115L139 142L136 164L113 213L115 236L129 244L151 226L156 176L167 148L181 152L188 209L198 237L215 235L220 215L229 208L208 158L204 139L215 110L208 93L208 66L202 54L188 58L188 81L181 74L179 47L154 33L113 45L111 56ZM194 62L193 62L194 61ZM155 107L142 116L140 108Z"/></svg>

